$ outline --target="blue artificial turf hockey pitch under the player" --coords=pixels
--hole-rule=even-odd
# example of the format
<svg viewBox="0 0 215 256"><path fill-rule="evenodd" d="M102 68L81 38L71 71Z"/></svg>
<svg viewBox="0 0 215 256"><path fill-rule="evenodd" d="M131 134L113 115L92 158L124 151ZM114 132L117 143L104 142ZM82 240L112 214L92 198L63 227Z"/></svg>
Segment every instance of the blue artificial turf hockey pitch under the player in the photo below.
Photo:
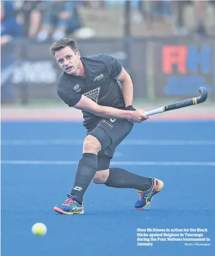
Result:
<svg viewBox="0 0 215 256"><path fill-rule="evenodd" d="M53 207L64 202L73 186L75 162L82 157L81 141L86 135L82 123L2 122L1 129L2 256L215 255L215 166L208 164L215 162L215 143L207 143L215 141L214 121L135 124L125 142L182 142L181 145L124 143L116 149L113 161L122 162L118 167L162 179L163 190L153 197L148 208L138 211L134 209L138 199L134 189L90 184L84 195L85 213L74 216L57 214ZM71 143L66 144L67 140ZM188 140L206 144L183 143ZM24 160L27 164L5 160ZM41 161L51 162L41 164ZM66 164L65 161L74 162ZM128 161L151 163L141 165ZM179 164L162 165L162 162ZM182 162L192 163L183 166ZM195 162L206 164L195 165ZM36 222L47 226L45 236L32 234L31 227ZM211 245L185 246L186 242L155 241L153 246L137 246L137 228L208 228L203 235L211 241L187 243Z"/></svg>

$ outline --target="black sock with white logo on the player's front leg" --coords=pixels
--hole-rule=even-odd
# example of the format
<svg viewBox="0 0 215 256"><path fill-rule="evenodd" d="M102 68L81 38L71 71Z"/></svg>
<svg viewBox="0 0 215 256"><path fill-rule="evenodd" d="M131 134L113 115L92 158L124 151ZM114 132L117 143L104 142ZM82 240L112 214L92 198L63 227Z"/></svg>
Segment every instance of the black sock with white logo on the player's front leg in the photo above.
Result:
<svg viewBox="0 0 215 256"><path fill-rule="evenodd" d="M95 176L96 171L97 155L92 153L83 153L83 157L79 161L79 166L77 167L74 187L70 193L77 197L77 203L82 203L83 195Z"/></svg>

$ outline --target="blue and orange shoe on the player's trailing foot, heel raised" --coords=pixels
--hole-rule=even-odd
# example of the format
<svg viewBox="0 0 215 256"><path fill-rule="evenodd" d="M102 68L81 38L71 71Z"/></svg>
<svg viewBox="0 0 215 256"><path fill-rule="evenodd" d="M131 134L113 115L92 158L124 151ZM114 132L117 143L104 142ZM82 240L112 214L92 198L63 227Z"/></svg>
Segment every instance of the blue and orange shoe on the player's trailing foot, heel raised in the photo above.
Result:
<svg viewBox="0 0 215 256"><path fill-rule="evenodd" d="M134 205L134 207L138 210L145 209L147 206L149 206L151 203L152 197L158 194L164 186L163 181L159 179L155 179L153 177L150 177L150 178L152 179L151 188L146 191L138 190L138 192L140 193L139 199L136 201Z"/></svg>

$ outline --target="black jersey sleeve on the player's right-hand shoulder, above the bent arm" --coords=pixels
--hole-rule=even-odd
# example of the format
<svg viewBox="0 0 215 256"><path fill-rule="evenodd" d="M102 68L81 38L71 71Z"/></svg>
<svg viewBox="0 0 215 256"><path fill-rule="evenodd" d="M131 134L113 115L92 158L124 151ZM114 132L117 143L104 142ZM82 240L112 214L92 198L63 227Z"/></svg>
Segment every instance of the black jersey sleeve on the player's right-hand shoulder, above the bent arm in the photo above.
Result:
<svg viewBox="0 0 215 256"><path fill-rule="evenodd" d="M108 54L103 54L102 55L102 60L109 71L109 74L114 78L117 79L121 73L122 73L122 65L113 58L112 56Z"/></svg>

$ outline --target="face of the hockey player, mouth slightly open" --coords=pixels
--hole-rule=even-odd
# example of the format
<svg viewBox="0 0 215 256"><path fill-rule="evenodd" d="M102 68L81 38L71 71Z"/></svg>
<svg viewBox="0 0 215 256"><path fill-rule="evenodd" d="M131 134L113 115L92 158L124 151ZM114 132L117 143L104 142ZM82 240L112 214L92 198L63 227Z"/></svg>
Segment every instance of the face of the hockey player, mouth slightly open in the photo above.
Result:
<svg viewBox="0 0 215 256"><path fill-rule="evenodd" d="M55 58L63 71L70 75L78 75L80 67L81 54L76 53L69 47L65 47L60 51L55 52Z"/></svg>

